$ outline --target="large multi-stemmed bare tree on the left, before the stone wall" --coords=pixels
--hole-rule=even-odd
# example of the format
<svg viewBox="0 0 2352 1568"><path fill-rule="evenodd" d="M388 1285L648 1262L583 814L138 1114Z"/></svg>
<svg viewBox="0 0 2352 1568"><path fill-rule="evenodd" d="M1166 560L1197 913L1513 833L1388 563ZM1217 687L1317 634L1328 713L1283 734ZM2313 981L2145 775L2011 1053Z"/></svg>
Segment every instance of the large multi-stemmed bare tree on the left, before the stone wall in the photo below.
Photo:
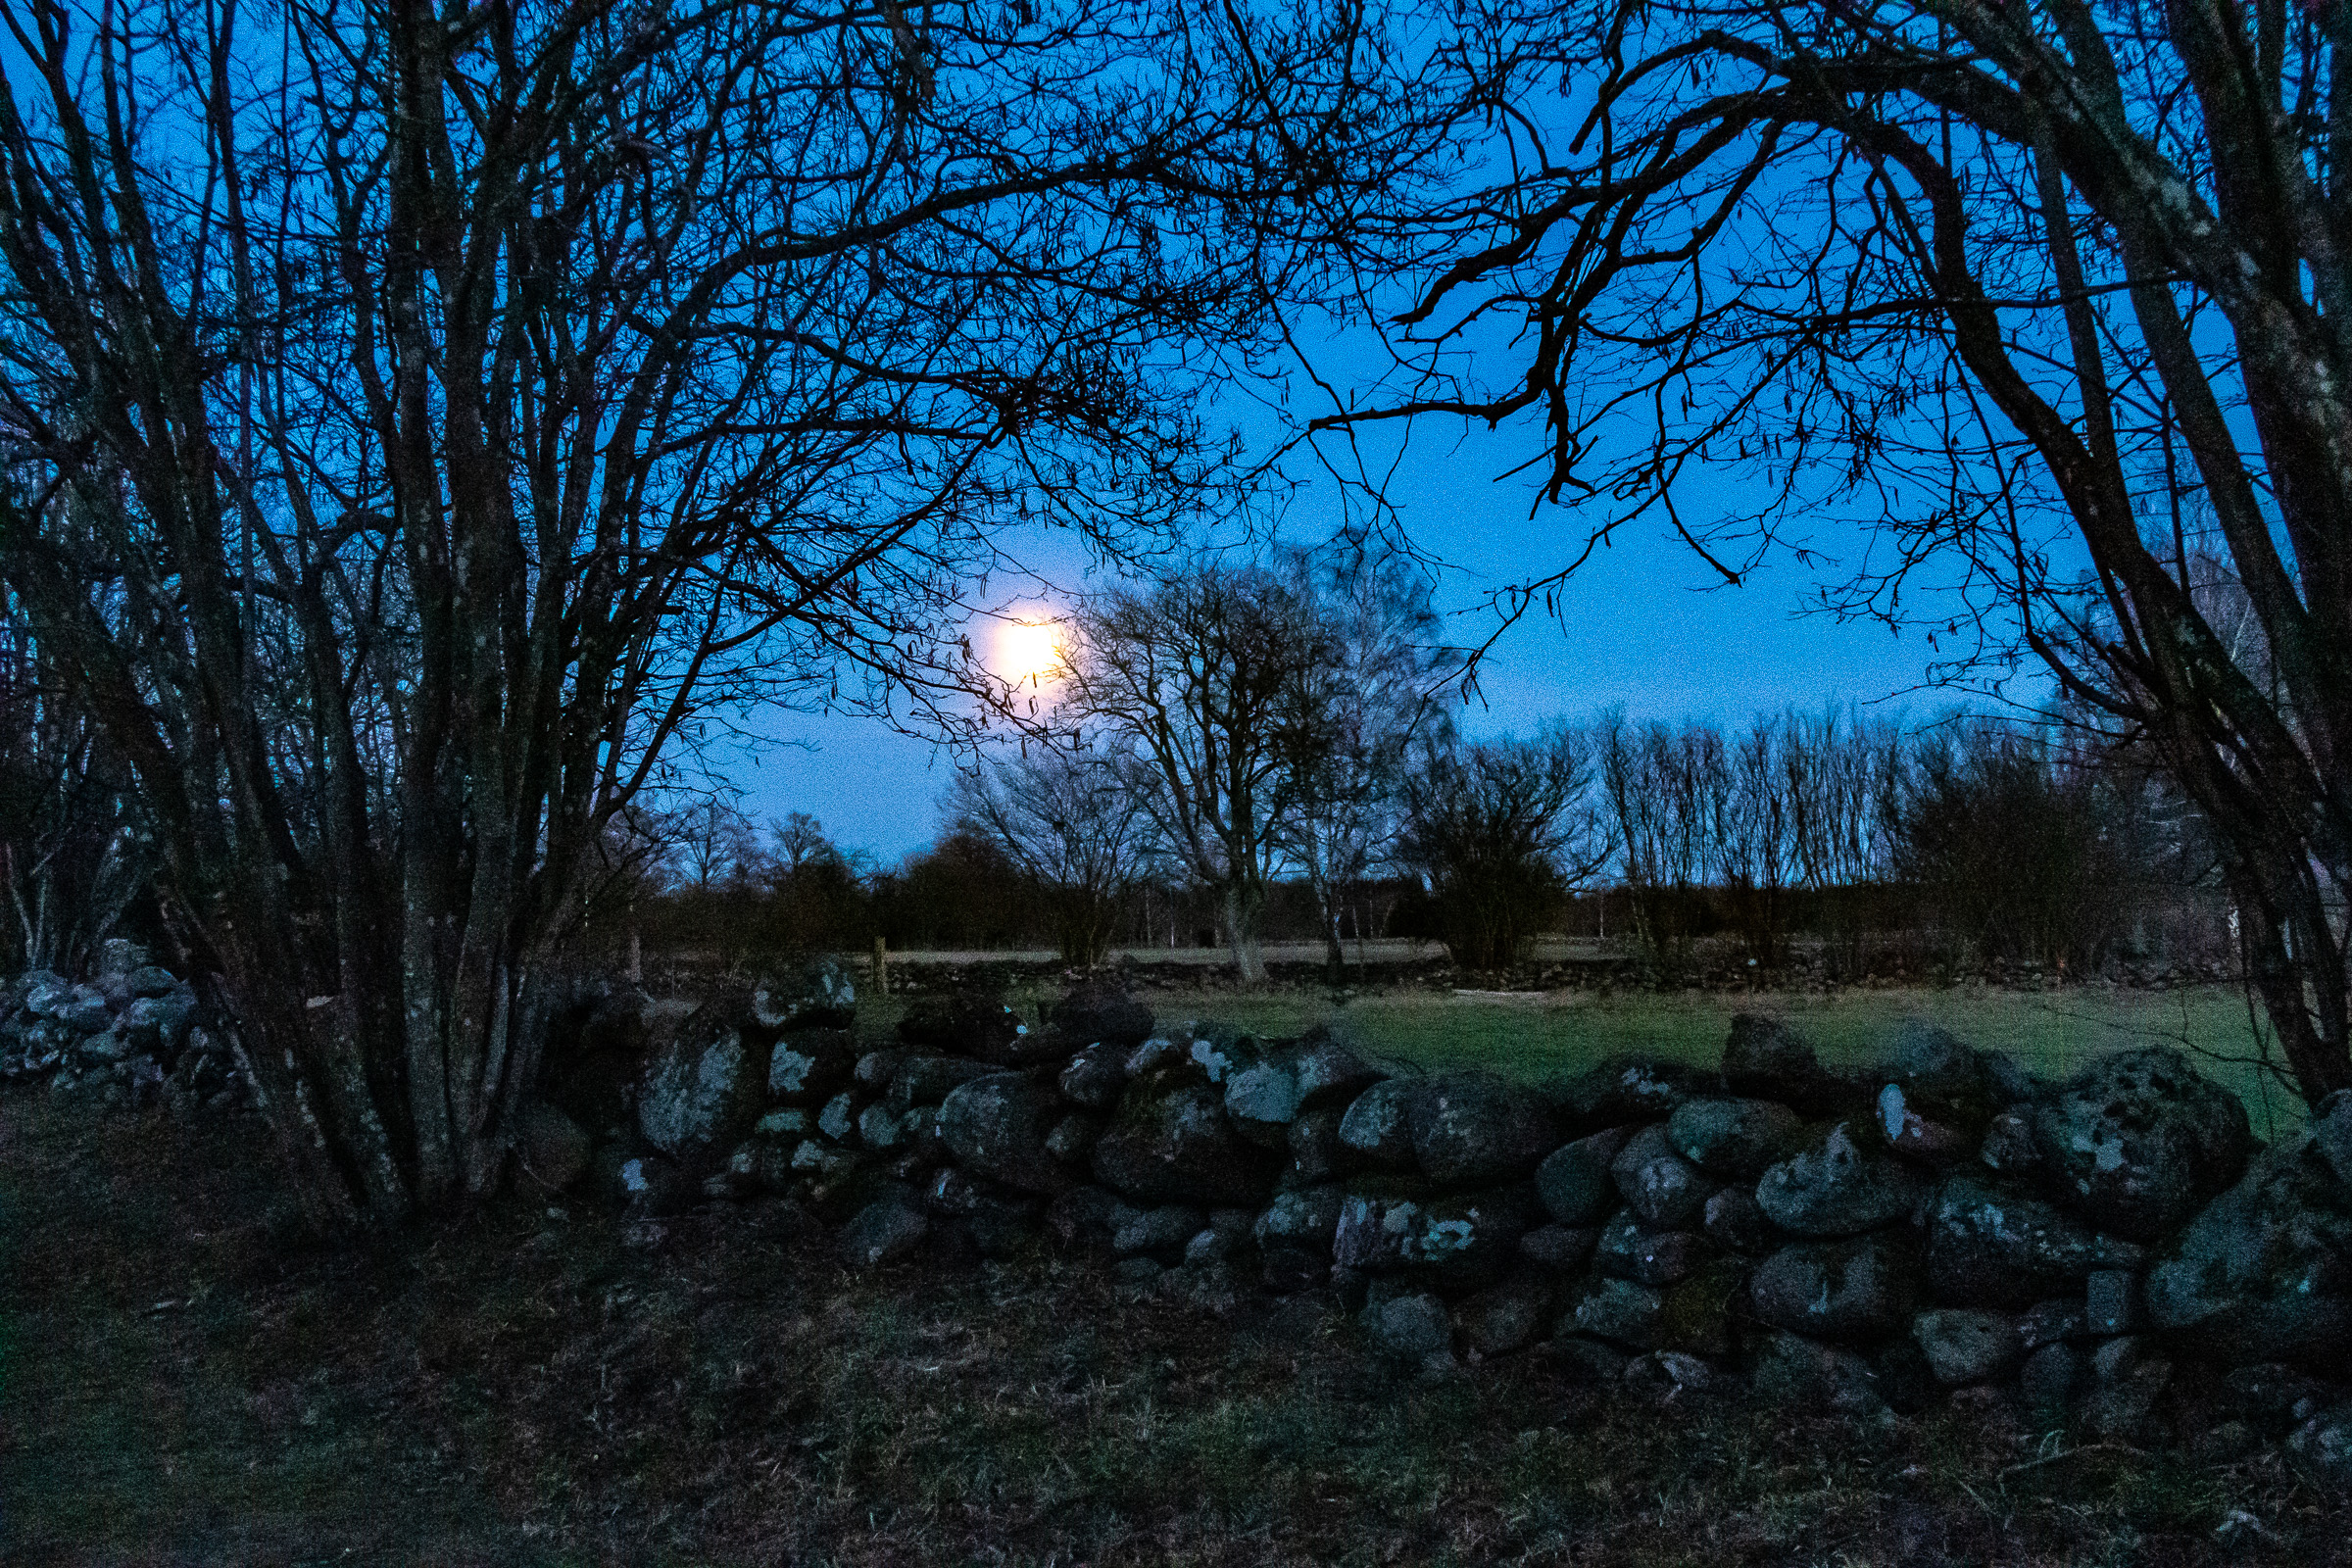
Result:
<svg viewBox="0 0 2352 1568"><path fill-rule="evenodd" d="M489 1192L604 823L1174 520L1392 160L1381 40L1148 5L0 12L0 578L325 1225Z"/></svg>

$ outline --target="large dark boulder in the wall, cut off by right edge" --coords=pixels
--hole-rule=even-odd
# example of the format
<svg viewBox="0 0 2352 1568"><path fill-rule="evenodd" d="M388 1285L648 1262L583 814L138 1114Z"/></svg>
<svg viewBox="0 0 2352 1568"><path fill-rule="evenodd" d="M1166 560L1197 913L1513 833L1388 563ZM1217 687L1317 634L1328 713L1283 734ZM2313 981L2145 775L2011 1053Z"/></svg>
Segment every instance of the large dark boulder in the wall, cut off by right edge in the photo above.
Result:
<svg viewBox="0 0 2352 1568"><path fill-rule="evenodd" d="M2147 1316L2230 1363L2352 1371L2352 1187L2312 1133L2258 1154L2147 1274Z"/></svg>

